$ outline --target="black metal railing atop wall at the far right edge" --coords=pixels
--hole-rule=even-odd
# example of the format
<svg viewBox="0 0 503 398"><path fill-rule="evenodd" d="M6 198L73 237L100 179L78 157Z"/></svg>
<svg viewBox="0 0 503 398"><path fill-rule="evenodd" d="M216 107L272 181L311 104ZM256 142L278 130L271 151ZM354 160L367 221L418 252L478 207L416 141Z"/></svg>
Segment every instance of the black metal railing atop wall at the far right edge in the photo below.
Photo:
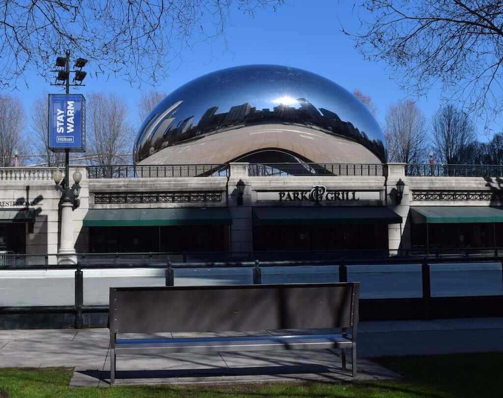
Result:
<svg viewBox="0 0 503 398"><path fill-rule="evenodd" d="M410 177L503 177L498 165L406 165Z"/></svg>

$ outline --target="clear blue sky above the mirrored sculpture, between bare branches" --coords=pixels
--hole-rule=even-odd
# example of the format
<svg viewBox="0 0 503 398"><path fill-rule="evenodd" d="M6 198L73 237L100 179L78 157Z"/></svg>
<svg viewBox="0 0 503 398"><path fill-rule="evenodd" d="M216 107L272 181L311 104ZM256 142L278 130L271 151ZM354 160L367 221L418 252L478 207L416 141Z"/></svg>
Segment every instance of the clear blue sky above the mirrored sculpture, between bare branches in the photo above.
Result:
<svg viewBox="0 0 503 398"><path fill-rule="evenodd" d="M354 48L352 39L340 31L339 21L349 31L358 29L358 17L352 13L351 2L291 0L276 13L259 10L255 18L235 12L227 26L226 46L220 40L212 48L200 44L184 51L183 61L174 61L169 76L157 87L143 85L138 89L121 77L96 78L88 74L86 87L78 92L84 95L96 91L119 93L130 107L130 123L136 126L139 124L136 106L142 92L155 89L169 94L191 79L214 70L250 63L272 63L321 74L350 91L359 88L372 97L377 106L377 120L382 125L388 107L407 98L407 94L390 78L386 64L363 59ZM27 77L29 89L21 88L17 95L29 113L34 97L40 92L57 90L37 78L34 72ZM427 97L417 100L428 120L437 111L439 99L440 90L434 89ZM476 125L480 139L484 140L484 121L476 120ZM498 123L492 123L490 127L493 132L501 130Z"/></svg>

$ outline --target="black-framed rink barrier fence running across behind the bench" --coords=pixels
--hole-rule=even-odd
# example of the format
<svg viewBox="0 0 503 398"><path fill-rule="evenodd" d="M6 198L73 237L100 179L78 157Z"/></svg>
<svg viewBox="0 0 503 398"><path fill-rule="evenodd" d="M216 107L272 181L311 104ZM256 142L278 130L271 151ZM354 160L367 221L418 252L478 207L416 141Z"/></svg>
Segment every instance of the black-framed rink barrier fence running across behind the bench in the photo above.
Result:
<svg viewBox="0 0 503 398"><path fill-rule="evenodd" d="M24 324L16 323L13 321L13 315L26 315L26 319L31 320L33 314L44 314L42 322L45 327L51 327L49 317L47 314L66 314L71 315L73 327L81 328L83 326L98 327L105 326L108 306L107 305L85 305L84 304L84 276L87 270L97 270L106 268L112 269L131 269L131 268L145 268L157 269L164 272L164 284L166 286L177 285L177 278L175 275L176 270L181 269L229 269L232 268L247 268L252 272L254 284L263 283L264 271L271 267L331 267L337 270L337 277L340 282L356 282L359 281L358 272L353 272L353 267L369 267L373 268L379 266L396 267L397 270L407 273L408 270L403 270L403 267L413 267L413 271L417 274L420 273L421 280L418 281L418 295L409 295L407 291L403 291L403 287L388 286L389 289L395 288L402 295L392 298L365 298L365 288L362 288L362 300L360 308L360 316L362 320L379 320L379 319L431 319L435 317L463 317L463 316L500 316L500 308L503 304L503 269L501 268L502 257L486 256L478 258L470 257L457 257L457 258L388 258L388 259L374 259L374 260L349 260L339 259L337 262L327 262L325 260L313 261L227 261L227 262L166 262L164 264L88 264L82 265L78 263L76 266L7 266L8 270L73 270L74 271L74 287L75 296L73 305L51 305L51 306L4 306L0 307L0 315L10 316L10 325L12 327L26 327ZM432 267L450 267L452 265L460 264L462 266L471 265L472 269L483 268L484 263L499 263L499 268L496 271L499 276L494 278L491 274L491 279L496 279L496 285L499 287L496 292L491 294L468 294L468 295L444 295L435 296L432 294L432 276L435 277L435 272ZM432 273L433 271L433 273ZM452 272L452 271L451 271ZM379 274L380 272L378 272ZM355 276L356 275L356 276ZM396 276L396 275L395 275ZM401 279L401 278L399 278ZM438 278L437 278L438 279ZM442 277L441 279L447 280L449 278ZM470 281L471 284L476 284L475 280ZM369 285L367 285L369 286ZM362 286L363 287L363 286ZM480 290L479 290L480 291ZM19 292L23 294L23 292ZM88 321L85 323L84 318ZM89 314L101 314L99 321L89 321ZM31 321L30 321L31 322ZM5 323L2 324L5 327ZM39 326L40 327L40 326ZM54 326L52 326L54 327Z"/></svg>

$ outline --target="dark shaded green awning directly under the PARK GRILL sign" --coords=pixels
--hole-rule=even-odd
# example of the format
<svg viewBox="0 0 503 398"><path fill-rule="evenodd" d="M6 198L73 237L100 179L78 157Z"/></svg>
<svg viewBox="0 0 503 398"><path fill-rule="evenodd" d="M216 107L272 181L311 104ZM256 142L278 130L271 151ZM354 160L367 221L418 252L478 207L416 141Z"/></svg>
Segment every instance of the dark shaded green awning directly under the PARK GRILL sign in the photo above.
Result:
<svg viewBox="0 0 503 398"><path fill-rule="evenodd" d="M387 207L255 207L254 225L399 224Z"/></svg>

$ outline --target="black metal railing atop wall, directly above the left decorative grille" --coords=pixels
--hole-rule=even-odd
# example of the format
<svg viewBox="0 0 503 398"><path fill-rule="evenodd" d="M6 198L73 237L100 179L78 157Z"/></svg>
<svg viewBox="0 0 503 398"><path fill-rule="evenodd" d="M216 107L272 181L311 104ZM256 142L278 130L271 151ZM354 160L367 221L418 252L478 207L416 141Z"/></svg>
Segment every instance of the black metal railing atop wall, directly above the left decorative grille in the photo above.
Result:
<svg viewBox="0 0 503 398"><path fill-rule="evenodd" d="M229 165L88 166L88 178L228 177Z"/></svg>

